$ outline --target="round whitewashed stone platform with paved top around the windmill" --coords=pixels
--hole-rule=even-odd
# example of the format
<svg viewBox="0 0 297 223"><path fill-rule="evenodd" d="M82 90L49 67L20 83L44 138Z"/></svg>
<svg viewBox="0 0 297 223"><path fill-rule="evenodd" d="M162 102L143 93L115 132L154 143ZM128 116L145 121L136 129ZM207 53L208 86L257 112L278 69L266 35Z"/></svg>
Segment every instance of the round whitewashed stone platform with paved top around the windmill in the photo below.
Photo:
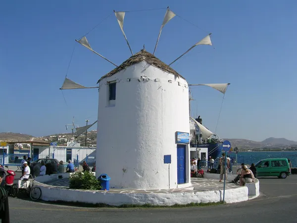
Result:
<svg viewBox="0 0 297 223"><path fill-rule="evenodd" d="M67 201L108 205L151 204L171 206L174 204L211 203L223 201L223 182L218 179L191 178L192 186L168 189L114 189L73 190L69 189L69 173L62 179L58 175L46 175L37 178L36 184L42 190L44 201ZM226 183L225 202L235 203L247 201L248 188L234 183Z"/></svg>

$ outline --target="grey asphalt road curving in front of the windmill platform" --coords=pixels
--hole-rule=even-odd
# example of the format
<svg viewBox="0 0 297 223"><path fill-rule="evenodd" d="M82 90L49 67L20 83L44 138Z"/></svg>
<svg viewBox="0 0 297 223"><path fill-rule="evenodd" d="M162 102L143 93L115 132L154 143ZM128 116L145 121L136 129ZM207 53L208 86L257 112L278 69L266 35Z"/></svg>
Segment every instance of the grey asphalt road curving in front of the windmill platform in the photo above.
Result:
<svg viewBox="0 0 297 223"><path fill-rule="evenodd" d="M11 223L297 223L297 175L260 179L261 196L230 205L193 208L83 208L9 198Z"/></svg>

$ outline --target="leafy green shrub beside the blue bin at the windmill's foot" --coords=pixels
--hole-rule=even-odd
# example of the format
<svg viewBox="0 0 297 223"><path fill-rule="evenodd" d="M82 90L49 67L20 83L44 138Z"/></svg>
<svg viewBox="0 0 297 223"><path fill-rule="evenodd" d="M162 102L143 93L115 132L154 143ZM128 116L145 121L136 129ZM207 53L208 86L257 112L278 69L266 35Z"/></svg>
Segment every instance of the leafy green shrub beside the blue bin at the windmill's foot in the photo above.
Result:
<svg viewBox="0 0 297 223"><path fill-rule="evenodd" d="M70 189L100 190L99 180L92 172L75 172L69 176Z"/></svg>

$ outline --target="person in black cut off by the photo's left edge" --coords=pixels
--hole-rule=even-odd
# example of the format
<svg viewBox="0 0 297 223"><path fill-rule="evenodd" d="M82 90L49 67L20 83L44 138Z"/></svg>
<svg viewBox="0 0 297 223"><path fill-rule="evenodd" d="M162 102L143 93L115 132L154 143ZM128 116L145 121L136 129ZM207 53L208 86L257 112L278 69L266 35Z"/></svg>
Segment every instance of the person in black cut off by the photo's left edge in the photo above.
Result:
<svg viewBox="0 0 297 223"><path fill-rule="evenodd" d="M5 170L0 165L0 184L5 178ZM9 223L9 205L8 205L8 194L3 187L0 187L0 219L1 223Z"/></svg>

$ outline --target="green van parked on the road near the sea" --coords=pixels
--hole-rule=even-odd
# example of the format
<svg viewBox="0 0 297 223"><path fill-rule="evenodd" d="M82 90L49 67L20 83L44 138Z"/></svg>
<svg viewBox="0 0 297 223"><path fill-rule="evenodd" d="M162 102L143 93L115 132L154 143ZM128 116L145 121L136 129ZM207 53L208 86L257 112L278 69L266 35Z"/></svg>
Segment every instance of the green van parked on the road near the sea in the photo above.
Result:
<svg viewBox="0 0 297 223"><path fill-rule="evenodd" d="M286 158L260 160L255 167L257 176L278 176L285 179L290 175L289 162Z"/></svg>

